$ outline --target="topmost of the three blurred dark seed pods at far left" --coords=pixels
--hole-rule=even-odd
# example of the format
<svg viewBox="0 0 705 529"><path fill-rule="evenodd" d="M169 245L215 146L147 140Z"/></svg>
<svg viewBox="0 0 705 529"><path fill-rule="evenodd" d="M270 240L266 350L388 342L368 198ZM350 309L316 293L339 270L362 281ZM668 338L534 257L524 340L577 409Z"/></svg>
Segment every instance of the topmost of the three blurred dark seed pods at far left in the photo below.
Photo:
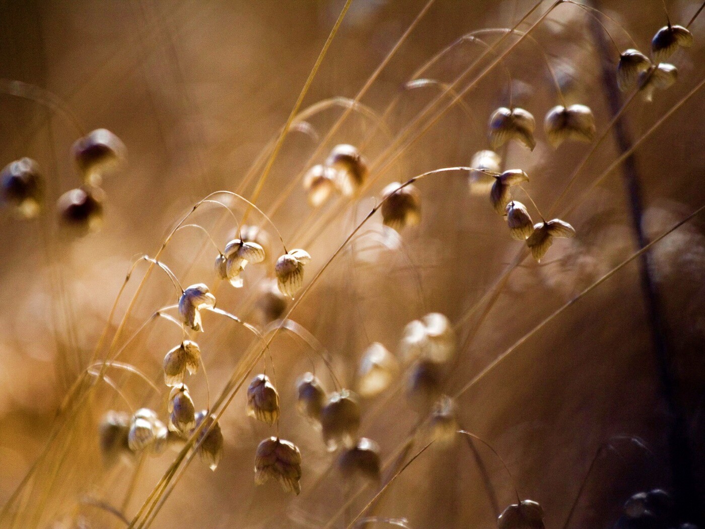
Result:
<svg viewBox="0 0 705 529"><path fill-rule="evenodd" d="M127 149L110 130L98 128L76 140L71 152L85 182L99 186L104 174L125 162Z"/></svg>

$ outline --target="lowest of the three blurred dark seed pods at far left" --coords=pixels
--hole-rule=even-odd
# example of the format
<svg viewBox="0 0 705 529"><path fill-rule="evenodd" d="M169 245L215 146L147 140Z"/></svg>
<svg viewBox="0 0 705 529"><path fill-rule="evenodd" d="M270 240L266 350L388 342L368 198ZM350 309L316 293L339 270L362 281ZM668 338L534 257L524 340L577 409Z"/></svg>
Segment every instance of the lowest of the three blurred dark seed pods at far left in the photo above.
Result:
<svg viewBox="0 0 705 529"><path fill-rule="evenodd" d="M105 193L101 188L83 186L63 193L56 202L64 228L81 236L98 231L103 224Z"/></svg>

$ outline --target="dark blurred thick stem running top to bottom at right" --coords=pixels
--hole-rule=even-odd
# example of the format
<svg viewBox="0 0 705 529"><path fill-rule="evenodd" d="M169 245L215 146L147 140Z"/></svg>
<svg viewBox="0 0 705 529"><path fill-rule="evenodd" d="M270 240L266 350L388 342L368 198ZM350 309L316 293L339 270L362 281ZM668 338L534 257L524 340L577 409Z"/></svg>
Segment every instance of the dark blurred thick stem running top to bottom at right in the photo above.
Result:
<svg viewBox="0 0 705 529"><path fill-rule="evenodd" d="M594 7L599 8L599 0L592 0ZM615 83L615 71L611 61L611 48L602 29L595 20L591 21L591 31L601 53L602 81L608 104L613 114L621 106L620 92ZM622 118L615 123L613 128L615 142L621 153L627 152L632 146L632 138L625 120ZM637 161L632 154L625 159L623 164L623 179L627 189L632 228L639 248L644 248L649 243L644 234L642 219L644 214L644 201ZM669 351L668 327L663 315L661 296L654 281L654 260L650 251L644 252L639 257L639 277L644 295L646 317L649 322L651 341L658 365L658 376L661 382L663 399L666 401L671 419L668 436L668 452L670 456L670 470L673 477L673 494L675 497L678 515L685 521L692 521L701 525L703 521L702 502L697 497L694 475L692 474L692 457L687 437L685 413L678 402L677 380L673 367L673 351Z"/></svg>

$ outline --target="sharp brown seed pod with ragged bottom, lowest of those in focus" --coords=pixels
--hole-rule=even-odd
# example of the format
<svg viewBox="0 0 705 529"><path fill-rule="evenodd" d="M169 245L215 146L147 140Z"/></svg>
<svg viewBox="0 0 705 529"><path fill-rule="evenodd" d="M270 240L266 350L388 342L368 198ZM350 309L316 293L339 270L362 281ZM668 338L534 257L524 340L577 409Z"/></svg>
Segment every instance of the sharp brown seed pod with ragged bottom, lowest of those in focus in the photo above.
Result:
<svg viewBox="0 0 705 529"><path fill-rule="evenodd" d="M255 454L255 483L274 478L286 492L301 492L301 452L295 444L278 437L264 439Z"/></svg>

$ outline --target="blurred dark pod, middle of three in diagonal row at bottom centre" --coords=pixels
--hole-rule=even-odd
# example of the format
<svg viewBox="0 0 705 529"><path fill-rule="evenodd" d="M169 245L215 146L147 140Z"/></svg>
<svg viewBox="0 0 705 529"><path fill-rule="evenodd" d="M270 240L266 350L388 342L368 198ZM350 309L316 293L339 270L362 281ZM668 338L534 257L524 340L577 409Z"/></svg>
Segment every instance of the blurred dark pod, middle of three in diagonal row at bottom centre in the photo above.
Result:
<svg viewBox="0 0 705 529"><path fill-rule="evenodd" d="M332 452L338 446L355 446L359 427L360 404L357 403L357 396L347 389L331 394L321 409L321 429L328 450Z"/></svg>

